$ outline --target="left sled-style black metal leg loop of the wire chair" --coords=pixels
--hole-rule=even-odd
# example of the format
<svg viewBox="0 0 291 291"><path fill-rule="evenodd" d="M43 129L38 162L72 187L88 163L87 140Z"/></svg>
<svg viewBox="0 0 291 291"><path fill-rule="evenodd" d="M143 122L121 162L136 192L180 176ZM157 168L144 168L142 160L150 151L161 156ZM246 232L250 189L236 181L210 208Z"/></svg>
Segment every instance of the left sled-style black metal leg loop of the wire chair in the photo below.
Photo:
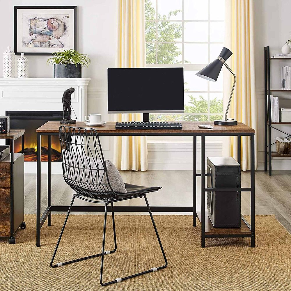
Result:
<svg viewBox="0 0 291 291"><path fill-rule="evenodd" d="M113 236L114 236L114 246L115 246L114 247L114 250L113 251L104 251L104 249L102 249L102 252L104 252L104 253L99 253L97 255L90 255L90 256L87 256L87 257L84 257L84 258L79 258L79 259L75 259L75 260L72 260L72 261L67 261L67 262L63 262L63 263L57 263L56 265L53 265L55 255L56 255L56 252L58 250L58 246L60 244L60 241L61 241L61 238L62 238L64 229L65 229L66 223L68 221L69 214L71 212L72 205L74 203L74 199L75 199L75 196L73 196L73 198L72 198L72 202L71 202L71 205L69 207L68 214L66 216L66 219L65 219L65 222L64 222L64 225L63 225L63 228L62 228L60 237L59 237L58 242L56 244L56 249L55 249L54 254L52 256L52 260L51 260L51 263L50 263L50 266L52 268L61 267L63 265L68 265L68 264L71 264L71 263L74 263L74 262L83 261L83 260L87 260L87 259L91 259L91 258L95 258L95 257L100 257L102 254L103 255L108 255L110 253L114 253L116 251L116 249L117 249L117 244L116 244L116 231L115 231L115 221L114 221L114 212L113 212L113 203L111 203L111 206L112 206L112 221L113 221ZM106 214L107 214L107 203L106 203L105 210L106 210Z"/></svg>

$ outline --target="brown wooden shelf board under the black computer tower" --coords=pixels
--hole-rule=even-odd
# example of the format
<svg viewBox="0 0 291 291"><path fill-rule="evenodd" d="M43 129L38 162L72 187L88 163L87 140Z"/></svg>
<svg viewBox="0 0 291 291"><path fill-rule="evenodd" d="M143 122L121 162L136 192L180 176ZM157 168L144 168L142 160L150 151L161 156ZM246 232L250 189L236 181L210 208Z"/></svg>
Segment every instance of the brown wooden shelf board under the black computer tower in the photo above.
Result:
<svg viewBox="0 0 291 291"><path fill-rule="evenodd" d="M198 220L201 223L201 212L197 212ZM250 235L251 230L249 230L246 223L242 220L242 226L240 228L215 228L213 227L207 212L205 212L205 235Z"/></svg>

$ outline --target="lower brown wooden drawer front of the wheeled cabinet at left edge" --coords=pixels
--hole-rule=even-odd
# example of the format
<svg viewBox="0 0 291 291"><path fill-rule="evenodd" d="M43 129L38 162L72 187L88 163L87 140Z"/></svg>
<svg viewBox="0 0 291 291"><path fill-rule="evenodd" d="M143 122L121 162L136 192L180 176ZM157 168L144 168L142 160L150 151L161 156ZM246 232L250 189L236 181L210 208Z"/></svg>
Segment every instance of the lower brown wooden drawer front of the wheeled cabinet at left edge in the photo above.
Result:
<svg viewBox="0 0 291 291"><path fill-rule="evenodd" d="M0 236L10 236L9 188L0 188Z"/></svg>

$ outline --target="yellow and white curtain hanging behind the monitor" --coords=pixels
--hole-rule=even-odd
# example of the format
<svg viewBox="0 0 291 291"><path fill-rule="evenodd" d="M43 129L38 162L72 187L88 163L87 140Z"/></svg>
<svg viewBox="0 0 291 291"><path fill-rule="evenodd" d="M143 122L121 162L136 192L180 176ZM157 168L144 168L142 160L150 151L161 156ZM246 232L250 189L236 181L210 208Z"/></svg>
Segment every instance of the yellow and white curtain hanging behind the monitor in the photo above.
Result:
<svg viewBox="0 0 291 291"><path fill-rule="evenodd" d="M145 67L145 1L118 0L118 68ZM115 114L116 121L141 121L142 114ZM145 136L115 136L113 163L121 170L146 171Z"/></svg>

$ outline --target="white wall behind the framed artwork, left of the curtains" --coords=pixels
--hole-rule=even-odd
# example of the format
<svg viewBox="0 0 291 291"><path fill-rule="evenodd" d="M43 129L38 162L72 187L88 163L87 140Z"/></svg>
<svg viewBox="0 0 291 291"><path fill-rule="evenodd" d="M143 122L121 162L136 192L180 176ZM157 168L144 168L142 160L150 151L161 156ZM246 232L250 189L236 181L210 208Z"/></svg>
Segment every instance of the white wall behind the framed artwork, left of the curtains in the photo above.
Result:
<svg viewBox="0 0 291 291"><path fill-rule="evenodd" d="M13 48L13 6L77 6L77 50L90 55L91 65L83 68L82 77L90 77L88 86L88 113L100 112L103 120L107 114L107 68L115 66L116 51L116 0L0 0L0 77L3 77L2 52ZM19 56L16 56L16 60ZM53 68L47 66L49 56L27 56L29 77L53 77ZM60 96L61 98L62 96ZM61 108L56 110L62 110ZM111 158L111 150L105 137L104 153ZM105 141L104 141L105 142Z"/></svg>

